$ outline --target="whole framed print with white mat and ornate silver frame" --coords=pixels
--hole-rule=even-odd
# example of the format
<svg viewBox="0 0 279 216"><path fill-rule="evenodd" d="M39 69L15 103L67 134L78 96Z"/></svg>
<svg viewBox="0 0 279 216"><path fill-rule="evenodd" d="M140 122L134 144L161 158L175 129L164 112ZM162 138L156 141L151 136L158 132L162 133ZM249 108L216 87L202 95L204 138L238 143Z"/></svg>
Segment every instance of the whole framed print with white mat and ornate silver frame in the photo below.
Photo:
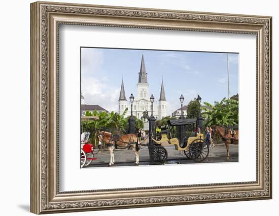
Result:
<svg viewBox="0 0 279 216"><path fill-rule="evenodd" d="M32 3L31 212L270 199L271 25Z"/></svg>

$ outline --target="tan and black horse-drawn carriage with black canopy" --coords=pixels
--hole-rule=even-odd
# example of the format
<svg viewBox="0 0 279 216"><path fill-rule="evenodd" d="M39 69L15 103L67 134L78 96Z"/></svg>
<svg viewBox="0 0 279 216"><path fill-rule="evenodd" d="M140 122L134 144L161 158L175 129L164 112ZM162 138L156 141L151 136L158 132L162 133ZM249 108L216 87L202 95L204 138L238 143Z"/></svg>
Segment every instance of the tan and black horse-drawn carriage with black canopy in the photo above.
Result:
<svg viewBox="0 0 279 216"><path fill-rule="evenodd" d="M194 161L200 162L205 160L209 153L209 146L203 139L203 134L192 131L188 136L186 134L181 142L179 142L178 138L172 138L171 127L177 127L179 130L181 127L184 128L185 126L194 125L195 122L195 118L168 120L168 125L161 131L160 138L152 138L154 145L150 149L150 158L154 162L166 161L167 150L164 146L173 145L176 150L183 151L186 157Z"/></svg>

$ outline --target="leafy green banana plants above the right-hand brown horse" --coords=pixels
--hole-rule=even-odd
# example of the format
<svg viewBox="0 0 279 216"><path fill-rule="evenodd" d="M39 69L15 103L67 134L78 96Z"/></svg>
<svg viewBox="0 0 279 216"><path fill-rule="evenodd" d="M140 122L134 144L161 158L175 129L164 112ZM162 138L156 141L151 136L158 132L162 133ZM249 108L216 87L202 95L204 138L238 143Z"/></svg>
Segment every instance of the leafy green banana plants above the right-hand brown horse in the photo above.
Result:
<svg viewBox="0 0 279 216"><path fill-rule="evenodd" d="M238 124L238 101L223 98L220 102L215 103L215 105L207 102L204 102L204 105L211 107L211 109L202 107L205 110L202 115L206 119L206 126L215 124L220 126Z"/></svg>

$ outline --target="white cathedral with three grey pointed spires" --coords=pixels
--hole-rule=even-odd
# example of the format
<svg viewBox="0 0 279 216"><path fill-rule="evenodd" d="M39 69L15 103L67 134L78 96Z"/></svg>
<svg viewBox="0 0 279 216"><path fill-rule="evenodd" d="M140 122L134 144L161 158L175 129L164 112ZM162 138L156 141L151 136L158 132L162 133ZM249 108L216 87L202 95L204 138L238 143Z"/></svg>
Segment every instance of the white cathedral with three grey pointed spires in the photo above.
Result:
<svg viewBox="0 0 279 216"><path fill-rule="evenodd" d="M134 97L132 114L137 118L141 119L141 117L143 116L143 112L145 110L148 111L149 116L151 115L151 102L150 102L151 94L149 94L149 83L147 82L147 72L145 69L144 55L142 56L141 70L138 73L138 82L136 84L136 87L137 87L137 95ZM128 111L125 116L128 117L131 115L131 104L130 101L126 100L123 79L121 83L118 105L119 105L118 106L119 114L122 114L125 111L125 109L128 107ZM162 80L159 101L158 103L156 103L155 101L153 103L154 117L156 119L162 119L163 117L166 117L166 109L167 109L166 97L165 97L164 84ZM143 119L143 120L144 120L145 129L148 129L147 119Z"/></svg>

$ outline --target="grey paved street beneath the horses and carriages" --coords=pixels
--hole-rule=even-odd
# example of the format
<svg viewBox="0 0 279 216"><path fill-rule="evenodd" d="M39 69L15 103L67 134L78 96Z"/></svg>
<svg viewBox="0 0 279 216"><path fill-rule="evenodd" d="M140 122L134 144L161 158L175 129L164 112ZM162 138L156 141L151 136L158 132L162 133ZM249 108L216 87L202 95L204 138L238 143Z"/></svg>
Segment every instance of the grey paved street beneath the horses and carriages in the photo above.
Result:
<svg viewBox="0 0 279 216"><path fill-rule="evenodd" d="M192 159L186 158L184 153L177 151L175 146L164 146L167 149L168 157L166 163L196 163ZM114 150L115 165L114 166L131 166L135 162L135 154L133 150ZM224 144L216 145L210 149L208 157L202 163L216 162L238 162L238 145L230 145L230 158L227 159L227 150ZM97 158L87 167L108 166L110 162L110 152L108 150L99 151L94 155ZM150 162L149 151L147 147L141 147L140 164L139 165L155 165Z"/></svg>

